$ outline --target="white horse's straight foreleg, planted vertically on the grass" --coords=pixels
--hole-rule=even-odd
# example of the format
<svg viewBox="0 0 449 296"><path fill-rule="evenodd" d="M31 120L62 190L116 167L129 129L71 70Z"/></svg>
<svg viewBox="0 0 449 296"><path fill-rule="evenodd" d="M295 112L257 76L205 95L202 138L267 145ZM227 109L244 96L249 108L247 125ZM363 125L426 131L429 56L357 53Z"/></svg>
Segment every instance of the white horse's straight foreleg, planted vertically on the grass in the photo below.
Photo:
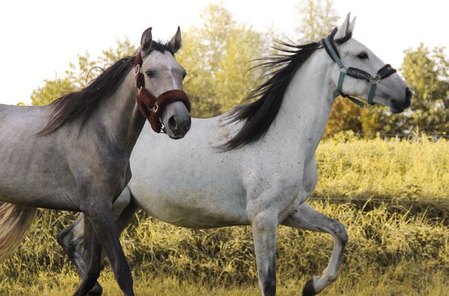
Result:
<svg viewBox="0 0 449 296"><path fill-rule="evenodd" d="M251 219L259 287L263 296L276 295L276 234L278 220L269 213Z"/></svg>

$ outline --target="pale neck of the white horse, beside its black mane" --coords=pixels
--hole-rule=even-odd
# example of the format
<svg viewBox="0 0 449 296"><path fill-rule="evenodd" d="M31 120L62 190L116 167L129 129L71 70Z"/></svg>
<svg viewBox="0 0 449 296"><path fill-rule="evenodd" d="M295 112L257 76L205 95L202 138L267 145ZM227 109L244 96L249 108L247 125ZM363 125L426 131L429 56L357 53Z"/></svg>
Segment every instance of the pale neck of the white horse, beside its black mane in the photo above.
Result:
<svg viewBox="0 0 449 296"><path fill-rule="evenodd" d="M333 92L329 61L324 50L318 50L296 71L269 134L278 143L307 145L312 156L329 119Z"/></svg>

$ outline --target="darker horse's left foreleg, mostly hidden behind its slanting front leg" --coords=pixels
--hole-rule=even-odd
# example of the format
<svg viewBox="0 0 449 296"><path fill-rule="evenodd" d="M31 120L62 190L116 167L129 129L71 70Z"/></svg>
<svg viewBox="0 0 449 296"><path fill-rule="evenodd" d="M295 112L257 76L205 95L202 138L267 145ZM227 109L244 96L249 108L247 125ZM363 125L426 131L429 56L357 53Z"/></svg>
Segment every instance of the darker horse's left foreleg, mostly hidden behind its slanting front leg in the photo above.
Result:
<svg viewBox="0 0 449 296"><path fill-rule="evenodd" d="M88 255L87 268L82 271L82 282L77 288L75 296L86 295L95 285L100 272L102 246L99 244L92 224L88 219L84 220L84 246Z"/></svg>

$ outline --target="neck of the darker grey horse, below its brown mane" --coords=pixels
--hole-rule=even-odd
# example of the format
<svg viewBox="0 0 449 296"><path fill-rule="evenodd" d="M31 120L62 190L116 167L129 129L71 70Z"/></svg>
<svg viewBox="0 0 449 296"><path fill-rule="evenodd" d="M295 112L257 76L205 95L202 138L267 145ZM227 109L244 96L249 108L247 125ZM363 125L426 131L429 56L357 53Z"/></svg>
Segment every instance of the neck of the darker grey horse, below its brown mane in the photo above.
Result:
<svg viewBox="0 0 449 296"><path fill-rule="evenodd" d="M134 70L131 69L113 95L102 100L97 108L99 121L94 123L98 132L106 132L108 138L128 155L131 155L145 123L137 108L136 95Z"/></svg>

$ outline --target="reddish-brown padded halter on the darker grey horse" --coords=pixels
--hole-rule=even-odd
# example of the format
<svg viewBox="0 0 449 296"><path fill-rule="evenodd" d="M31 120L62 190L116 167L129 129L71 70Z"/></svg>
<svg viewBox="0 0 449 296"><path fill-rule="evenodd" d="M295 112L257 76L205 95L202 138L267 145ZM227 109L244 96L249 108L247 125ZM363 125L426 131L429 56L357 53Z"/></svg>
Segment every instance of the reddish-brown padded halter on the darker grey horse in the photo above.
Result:
<svg viewBox="0 0 449 296"><path fill-rule="evenodd" d="M163 108L174 101L182 101L190 112L189 97L182 90L168 90L157 98L151 95L151 92L145 88L145 77L141 72L142 63L142 53L139 51L134 59L135 87L139 89L139 92L137 92L137 107L140 113L149 121L151 128L155 132L161 132L162 124L159 118Z"/></svg>

